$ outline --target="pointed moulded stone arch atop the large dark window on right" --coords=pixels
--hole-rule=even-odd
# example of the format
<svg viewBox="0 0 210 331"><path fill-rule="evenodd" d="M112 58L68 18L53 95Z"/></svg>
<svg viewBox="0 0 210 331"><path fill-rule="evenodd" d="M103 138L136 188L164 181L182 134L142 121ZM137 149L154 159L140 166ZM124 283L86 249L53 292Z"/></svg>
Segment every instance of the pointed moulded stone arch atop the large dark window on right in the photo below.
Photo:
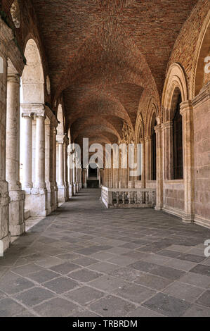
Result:
<svg viewBox="0 0 210 331"><path fill-rule="evenodd" d="M166 75L162 94L163 121L172 120L178 95L181 93L182 101L188 100L188 85L185 72L180 64L173 63Z"/></svg>

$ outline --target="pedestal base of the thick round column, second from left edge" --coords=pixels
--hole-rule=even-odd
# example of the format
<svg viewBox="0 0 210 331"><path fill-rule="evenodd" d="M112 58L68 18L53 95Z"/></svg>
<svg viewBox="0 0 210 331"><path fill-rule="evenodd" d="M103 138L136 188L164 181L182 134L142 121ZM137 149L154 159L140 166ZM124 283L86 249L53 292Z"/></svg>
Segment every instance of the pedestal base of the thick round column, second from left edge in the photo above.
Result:
<svg viewBox="0 0 210 331"><path fill-rule="evenodd" d="M25 191L10 191L9 230L11 237L25 233Z"/></svg>

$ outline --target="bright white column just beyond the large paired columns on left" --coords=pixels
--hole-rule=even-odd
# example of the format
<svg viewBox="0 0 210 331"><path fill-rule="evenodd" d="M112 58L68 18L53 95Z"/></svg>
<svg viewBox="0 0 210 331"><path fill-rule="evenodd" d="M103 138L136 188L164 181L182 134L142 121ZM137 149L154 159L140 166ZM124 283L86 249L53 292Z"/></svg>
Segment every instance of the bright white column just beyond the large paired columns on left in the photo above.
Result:
<svg viewBox="0 0 210 331"><path fill-rule="evenodd" d="M57 142L58 142L58 202L65 202L65 182L64 182L64 164L63 164L64 136L57 135Z"/></svg>

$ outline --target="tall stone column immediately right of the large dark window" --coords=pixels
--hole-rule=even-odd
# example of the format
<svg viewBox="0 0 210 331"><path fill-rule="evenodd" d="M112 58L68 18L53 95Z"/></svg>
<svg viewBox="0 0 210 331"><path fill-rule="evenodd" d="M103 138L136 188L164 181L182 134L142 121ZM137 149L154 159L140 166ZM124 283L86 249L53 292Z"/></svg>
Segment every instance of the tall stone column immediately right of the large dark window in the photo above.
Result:
<svg viewBox="0 0 210 331"><path fill-rule="evenodd" d="M183 216L183 220L191 222L195 213L194 127L191 101L185 101L181 104L180 113L183 117L183 177L185 185L185 216Z"/></svg>

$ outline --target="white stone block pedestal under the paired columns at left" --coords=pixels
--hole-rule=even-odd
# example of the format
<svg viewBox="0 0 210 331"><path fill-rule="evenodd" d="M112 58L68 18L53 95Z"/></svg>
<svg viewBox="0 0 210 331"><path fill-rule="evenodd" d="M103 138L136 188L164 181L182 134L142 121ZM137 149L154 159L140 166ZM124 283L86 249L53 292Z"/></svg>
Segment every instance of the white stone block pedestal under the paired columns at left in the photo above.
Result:
<svg viewBox="0 0 210 331"><path fill-rule="evenodd" d="M47 216L47 190L30 189L25 192L25 208L30 211L31 217Z"/></svg>

